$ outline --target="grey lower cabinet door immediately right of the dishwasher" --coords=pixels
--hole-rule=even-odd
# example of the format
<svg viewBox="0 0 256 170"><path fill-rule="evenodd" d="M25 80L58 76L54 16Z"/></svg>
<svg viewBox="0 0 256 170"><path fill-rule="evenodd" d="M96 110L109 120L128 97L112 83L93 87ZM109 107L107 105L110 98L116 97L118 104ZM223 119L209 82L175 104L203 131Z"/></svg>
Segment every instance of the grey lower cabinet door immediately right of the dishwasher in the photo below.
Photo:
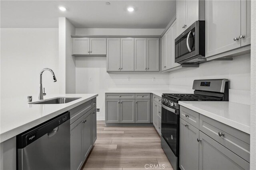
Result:
<svg viewBox="0 0 256 170"><path fill-rule="evenodd" d="M70 125L70 169L80 170L83 163L83 116Z"/></svg>

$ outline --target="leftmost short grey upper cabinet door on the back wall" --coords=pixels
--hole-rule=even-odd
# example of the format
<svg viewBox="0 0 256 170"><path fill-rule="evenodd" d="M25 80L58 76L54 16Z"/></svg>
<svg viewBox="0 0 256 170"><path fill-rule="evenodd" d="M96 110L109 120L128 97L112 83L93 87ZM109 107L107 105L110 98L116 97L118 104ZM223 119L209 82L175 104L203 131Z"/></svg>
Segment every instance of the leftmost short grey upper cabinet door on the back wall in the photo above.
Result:
<svg viewBox="0 0 256 170"><path fill-rule="evenodd" d="M90 55L90 39L73 38L72 55Z"/></svg>

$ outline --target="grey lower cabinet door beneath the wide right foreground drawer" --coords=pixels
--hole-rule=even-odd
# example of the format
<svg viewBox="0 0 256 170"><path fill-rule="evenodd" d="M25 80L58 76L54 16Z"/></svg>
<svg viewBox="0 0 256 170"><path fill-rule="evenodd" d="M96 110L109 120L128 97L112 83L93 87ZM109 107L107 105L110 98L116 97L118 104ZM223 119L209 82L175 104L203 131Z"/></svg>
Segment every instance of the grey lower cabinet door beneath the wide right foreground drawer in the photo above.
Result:
<svg viewBox="0 0 256 170"><path fill-rule="evenodd" d="M249 170L250 163L200 131L199 170Z"/></svg>

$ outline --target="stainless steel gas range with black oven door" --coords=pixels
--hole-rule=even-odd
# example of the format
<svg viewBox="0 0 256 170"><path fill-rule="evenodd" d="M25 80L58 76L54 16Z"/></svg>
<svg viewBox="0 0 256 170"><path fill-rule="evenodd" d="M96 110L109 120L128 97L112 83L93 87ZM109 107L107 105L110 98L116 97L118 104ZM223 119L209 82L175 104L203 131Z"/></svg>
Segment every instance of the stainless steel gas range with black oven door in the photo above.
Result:
<svg viewBox="0 0 256 170"><path fill-rule="evenodd" d="M194 80L194 94L162 94L161 146L174 170L179 168L179 101L228 101L228 79Z"/></svg>

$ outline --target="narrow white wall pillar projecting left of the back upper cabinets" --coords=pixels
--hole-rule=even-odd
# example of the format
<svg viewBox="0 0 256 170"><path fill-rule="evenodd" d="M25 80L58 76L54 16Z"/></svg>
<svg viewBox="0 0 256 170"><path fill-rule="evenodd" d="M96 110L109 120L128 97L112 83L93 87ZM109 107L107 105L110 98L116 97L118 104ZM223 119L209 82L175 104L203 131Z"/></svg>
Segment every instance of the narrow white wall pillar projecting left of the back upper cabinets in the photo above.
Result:
<svg viewBox="0 0 256 170"><path fill-rule="evenodd" d="M72 56L72 38L75 27L68 19L59 18L59 65L60 65L60 92L72 94L76 92L75 57Z"/></svg>

